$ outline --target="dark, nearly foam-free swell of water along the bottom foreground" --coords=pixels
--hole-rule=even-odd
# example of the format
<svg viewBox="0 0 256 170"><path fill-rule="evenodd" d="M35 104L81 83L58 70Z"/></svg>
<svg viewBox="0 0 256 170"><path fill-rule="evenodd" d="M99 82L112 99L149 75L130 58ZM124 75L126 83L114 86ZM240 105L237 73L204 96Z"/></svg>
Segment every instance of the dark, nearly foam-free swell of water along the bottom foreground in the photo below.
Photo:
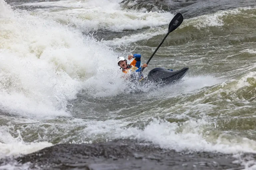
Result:
<svg viewBox="0 0 256 170"><path fill-rule="evenodd" d="M248 161L253 157L255 158L256 154L247 153L235 158L233 155L223 153L175 152L150 143L116 140L94 144L58 144L14 159L2 159L0 163L6 165L19 162L17 168L27 163L30 169L45 170L238 170L244 168L244 162L241 160Z"/></svg>

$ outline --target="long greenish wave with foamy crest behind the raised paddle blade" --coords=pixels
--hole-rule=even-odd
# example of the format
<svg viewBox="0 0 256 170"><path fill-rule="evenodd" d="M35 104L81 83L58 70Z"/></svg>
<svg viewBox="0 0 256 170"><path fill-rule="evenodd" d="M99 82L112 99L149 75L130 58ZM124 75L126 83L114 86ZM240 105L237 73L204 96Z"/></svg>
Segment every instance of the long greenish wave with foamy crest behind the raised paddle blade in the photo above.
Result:
<svg viewBox="0 0 256 170"><path fill-rule="evenodd" d="M205 42L207 37L210 37L210 40L207 38L207 41L211 41L212 43L223 41L227 46L244 42L255 42L255 36L250 34L254 29L250 23L254 22L255 10L255 7L241 7L233 10L218 11L213 14L202 15L191 19L184 19L181 26L170 34L169 37L171 38L167 38L162 46L172 46L200 40ZM171 18L169 18L170 21ZM237 27L240 27L240 29L237 29ZM168 25L165 25L146 29L129 36L124 35L121 38L102 40L102 42L107 45L116 46L138 43L142 46L144 44L151 44L151 46L156 47L167 32ZM237 38L237 36L242 34L244 34L243 37L240 36ZM219 37L222 37L222 40L219 40Z"/></svg>

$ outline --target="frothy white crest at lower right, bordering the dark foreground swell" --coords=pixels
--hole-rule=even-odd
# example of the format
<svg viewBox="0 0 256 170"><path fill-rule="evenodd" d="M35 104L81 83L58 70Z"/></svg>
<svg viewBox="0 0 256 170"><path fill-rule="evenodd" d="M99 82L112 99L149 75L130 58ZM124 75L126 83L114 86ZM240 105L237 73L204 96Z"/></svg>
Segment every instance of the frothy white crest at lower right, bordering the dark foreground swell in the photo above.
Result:
<svg viewBox="0 0 256 170"><path fill-rule="evenodd" d="M209 123L203 120L188 121L182 126L169 122L152 123L145 128L142 138L177 151L189 149L224 153L240 151L256 153L254 140L223 134L220 131L221 134L215 136L214 129L206 130L206 126L209 126Z"/></svg>

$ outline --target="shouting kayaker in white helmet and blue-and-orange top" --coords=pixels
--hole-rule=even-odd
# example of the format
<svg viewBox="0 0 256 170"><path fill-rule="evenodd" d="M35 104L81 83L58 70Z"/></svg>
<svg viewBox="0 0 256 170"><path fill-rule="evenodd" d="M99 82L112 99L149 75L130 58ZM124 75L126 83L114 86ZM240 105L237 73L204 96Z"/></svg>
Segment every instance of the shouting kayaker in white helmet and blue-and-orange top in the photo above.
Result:
<svg viewBox="0 0 256 170"><path fill-rule="evenodd" d="M127 64L127 60L124 57L118 57L117 64L121 67L120 69L122 69L122 71L124 73L128 73L129 71L134 72L131 75L132 79L134 79L135 77L138 77L139 80L141 80L143 78L141 69L143 67L147 67L148 65L145 63L142 66L140 66L141 54L133 54L133 55L128 56L128 60L131 60L133 58L134 58L134 60L131 62L131 64ZM136 73L138 73L138 74L136 74ZM134 76L135 74L138 76Z"/></svg>

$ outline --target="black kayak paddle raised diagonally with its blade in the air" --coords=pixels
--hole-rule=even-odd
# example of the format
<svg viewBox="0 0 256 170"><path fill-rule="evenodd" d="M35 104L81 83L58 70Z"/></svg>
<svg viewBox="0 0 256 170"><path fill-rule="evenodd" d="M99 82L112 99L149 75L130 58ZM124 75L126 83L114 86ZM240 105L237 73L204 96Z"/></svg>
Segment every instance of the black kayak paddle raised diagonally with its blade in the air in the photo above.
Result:
<svg viewBox="0 0 256 170"><path fill-rule="evenodd" d="M151 58L155 55L156 51L157 51L158 48L162 45L162 43L164 42L164 40L166 39L166 37L167 37L171 32L173 32L174 30L176 30L176 28L178 28L178 27L181 25L182 22L183 22L183 16L181 15L181 13L178 13L178 14L176 14L176 15L173 17L172 21L171 21L170 24L169 24L169 29L168 29L169 31L168 31L168 33L167 33L166 36L164 37L163 41L158 45L158 47L156 48L155 52L151 55L151 57L149 58L147 64L149 63L149 61L151 60ZM145 67L143 67L143 68L141 69L141 72L144 70L144 68L145 68Z"/></svg>

